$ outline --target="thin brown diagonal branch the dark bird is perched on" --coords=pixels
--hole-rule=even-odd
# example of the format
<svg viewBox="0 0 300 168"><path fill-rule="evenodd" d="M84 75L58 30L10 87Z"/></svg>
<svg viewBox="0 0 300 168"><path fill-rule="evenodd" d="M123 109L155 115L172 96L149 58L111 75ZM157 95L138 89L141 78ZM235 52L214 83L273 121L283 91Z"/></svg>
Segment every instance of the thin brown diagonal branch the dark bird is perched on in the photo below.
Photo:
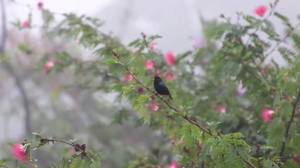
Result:
<svg viewBox="0 0 300 168"><path fill-rule="evenodd" d="M118 54L113 51L113 55L115 57L117 57L117 59L120 61L121 58L120 56L118 56ZM174 108L169 102L167 102L166 100L163 100L162 97L158 96L158 94L156 94L154 91L152 91L149 87L147 87L145 84L143 84L139 79L137 79L137 77L135 75L133 75L133 73L129 70L129 68L126 65L123 65L126 70L128 71L128 73L137 81L138 84L144 86L147 90L149 90L151 93L153 93L156 97L158 97L161 101L163 101L167 106L169 106L172 110L174 110L175 112L180 112L179 110L177 110L176 108ZM196 127L198 127L199 129L201 129L202 131L206 132L209 135L213 135L210 131L207 131L204 127L201 127L196 121L190 119L187 115L181 115L184 119L186 119L190 124L195 125Z"/></svg>

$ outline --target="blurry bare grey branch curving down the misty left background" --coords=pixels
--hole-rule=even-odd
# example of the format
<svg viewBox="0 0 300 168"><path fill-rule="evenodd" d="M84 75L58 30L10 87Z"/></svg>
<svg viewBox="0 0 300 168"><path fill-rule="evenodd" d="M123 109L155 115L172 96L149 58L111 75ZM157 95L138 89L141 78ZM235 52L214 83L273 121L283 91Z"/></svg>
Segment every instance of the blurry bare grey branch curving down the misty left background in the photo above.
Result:
<svg viewBox="0 0 300 168"><path fill-rule="evenodd" d="M1 12L2 36L1 36L1 43L0 43L0 56L2 57L4 55L5 43L6 43L6 14L5 14L4 0L1 0L0 3L1 3L1 11L2 11ZM25 131L27 135L30 135L32 132L31 124L30 124L31 112L30 112L29 100L26 91L16 71L13 69L12 65L8 61L3 61L2 65L4 69L15 79L15 83L21 93L23 99L23 108L25 110Z"/></svg>

